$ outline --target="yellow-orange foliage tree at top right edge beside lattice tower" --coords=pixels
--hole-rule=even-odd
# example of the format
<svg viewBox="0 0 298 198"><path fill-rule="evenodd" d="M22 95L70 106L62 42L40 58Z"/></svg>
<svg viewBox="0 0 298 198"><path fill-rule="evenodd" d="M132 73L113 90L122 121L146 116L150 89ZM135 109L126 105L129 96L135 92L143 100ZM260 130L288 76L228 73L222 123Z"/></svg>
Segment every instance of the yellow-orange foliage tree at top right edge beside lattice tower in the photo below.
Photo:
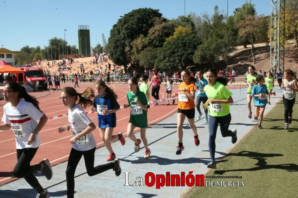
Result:
<svg viewBox="0 0 298 198"><path fill-rule="evenodd" d="M285 36L295 39L298 46L298 0L288 0L285 5Z"/></svg>

